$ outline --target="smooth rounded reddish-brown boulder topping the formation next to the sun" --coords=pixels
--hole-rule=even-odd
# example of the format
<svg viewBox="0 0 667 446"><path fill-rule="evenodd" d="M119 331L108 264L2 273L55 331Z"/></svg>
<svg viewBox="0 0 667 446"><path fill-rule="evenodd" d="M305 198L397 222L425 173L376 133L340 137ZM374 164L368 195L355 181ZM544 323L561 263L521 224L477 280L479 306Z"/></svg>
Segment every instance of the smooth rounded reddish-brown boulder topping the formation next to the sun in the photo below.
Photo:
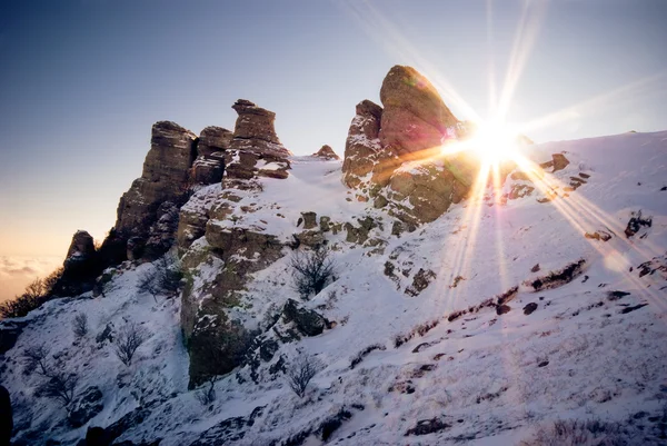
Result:
<svg viewBox="0 0 667 446"><path fill-rule="evenodd" d="M450 137L448 129L456 129L458 123L436 88L411 67L389 70L380 100L382 148L391 147L399 156L441 146Z"/></svg>

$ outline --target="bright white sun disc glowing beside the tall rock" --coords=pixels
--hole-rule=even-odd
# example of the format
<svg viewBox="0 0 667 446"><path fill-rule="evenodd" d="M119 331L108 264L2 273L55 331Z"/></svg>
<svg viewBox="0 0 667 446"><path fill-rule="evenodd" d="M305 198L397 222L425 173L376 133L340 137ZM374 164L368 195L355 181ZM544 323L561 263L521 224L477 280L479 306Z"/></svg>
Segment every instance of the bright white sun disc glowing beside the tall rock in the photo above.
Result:
<svg viewBox="0 0 667 446"><path fill-rule="evenodd" d="M497 165L516 159L518 135L509 126L500 122L479 125L470 139L470 150L484 162Z"/></svg>

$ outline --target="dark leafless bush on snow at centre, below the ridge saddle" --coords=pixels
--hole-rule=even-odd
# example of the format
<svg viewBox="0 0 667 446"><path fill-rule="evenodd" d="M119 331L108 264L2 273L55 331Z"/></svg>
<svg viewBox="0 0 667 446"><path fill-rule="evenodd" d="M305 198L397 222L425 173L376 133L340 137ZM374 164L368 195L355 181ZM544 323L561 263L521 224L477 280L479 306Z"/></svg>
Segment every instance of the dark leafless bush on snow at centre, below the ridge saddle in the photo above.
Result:
<svg viewBox="0 0 667 446"><path fill-rule="evenodd" d="M317 296L334 279L335 264L329 250L320 247L309 252L296 251L290 260L295 289L302 299Z"/></svg>

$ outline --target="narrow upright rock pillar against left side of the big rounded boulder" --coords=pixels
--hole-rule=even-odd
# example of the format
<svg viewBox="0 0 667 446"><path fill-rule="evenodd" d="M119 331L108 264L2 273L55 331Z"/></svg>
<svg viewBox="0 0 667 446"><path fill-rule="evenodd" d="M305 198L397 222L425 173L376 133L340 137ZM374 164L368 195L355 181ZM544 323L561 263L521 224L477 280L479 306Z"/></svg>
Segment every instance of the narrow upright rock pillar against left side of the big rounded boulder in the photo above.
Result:
<svg viewBox="0 0 667 446"><path fill-rule="evenodd" d="M342 162L342 180L348 187L358 187L361 178L372 171L376 157L381 149L379 140L381 118L382 108L377 103L364 100L357 105L345 142Z"/></svg>

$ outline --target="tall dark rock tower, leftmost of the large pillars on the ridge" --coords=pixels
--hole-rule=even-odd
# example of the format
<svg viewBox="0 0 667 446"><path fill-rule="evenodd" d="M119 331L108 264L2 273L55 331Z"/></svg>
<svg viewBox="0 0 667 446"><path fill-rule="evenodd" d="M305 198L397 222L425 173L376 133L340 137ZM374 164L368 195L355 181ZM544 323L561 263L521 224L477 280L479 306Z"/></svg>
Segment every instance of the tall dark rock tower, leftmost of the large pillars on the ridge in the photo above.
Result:
<svg viewBox="0 0 667 446"><path fill-rule="evenodd" d="M146 236L160 217L160 204L182 201L196 155L195 133L171 121L156 122L143 172L121 197L115 228L126 236Z"/></svg>

